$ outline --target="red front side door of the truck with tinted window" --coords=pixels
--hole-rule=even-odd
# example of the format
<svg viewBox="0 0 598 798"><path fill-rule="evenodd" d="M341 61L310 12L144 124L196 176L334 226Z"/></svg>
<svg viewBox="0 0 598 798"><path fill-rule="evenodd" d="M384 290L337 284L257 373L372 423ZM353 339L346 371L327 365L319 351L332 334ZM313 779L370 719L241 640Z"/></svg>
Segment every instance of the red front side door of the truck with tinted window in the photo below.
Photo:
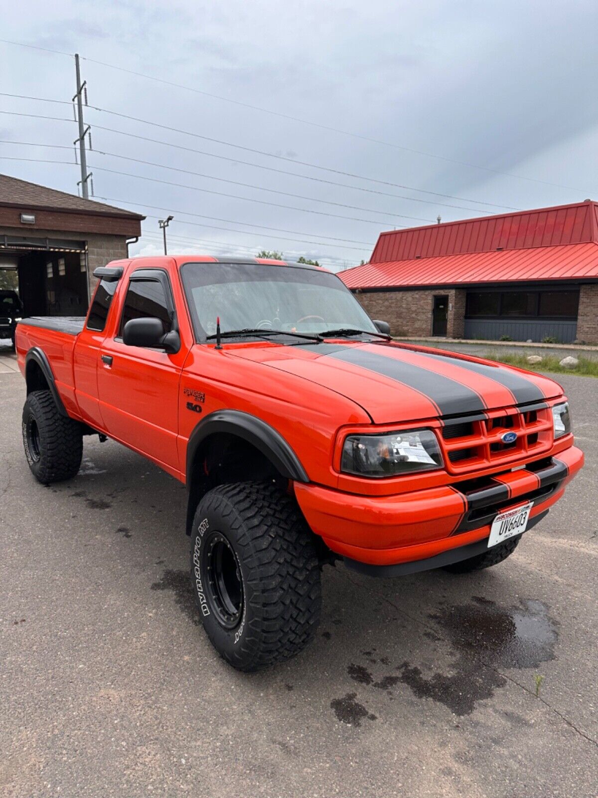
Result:
<svg viewBox="0 0 598 798"><path fill-rule="evenodd" d="M166 270L142 267L131 272L120 319L100 347L97 382L108 434L178 473L179 381L187 347L167 354L125 346L123 328L132 318L159 318L165 333L177 329Z"/></svg>

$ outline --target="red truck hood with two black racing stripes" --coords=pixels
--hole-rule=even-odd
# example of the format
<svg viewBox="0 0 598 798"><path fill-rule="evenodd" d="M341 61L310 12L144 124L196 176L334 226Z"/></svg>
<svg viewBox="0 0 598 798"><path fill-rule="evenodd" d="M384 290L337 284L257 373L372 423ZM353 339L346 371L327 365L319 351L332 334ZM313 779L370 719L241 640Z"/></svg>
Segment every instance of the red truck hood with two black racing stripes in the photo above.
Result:
<svg viewBox="0 0 598 798"><path fill-rule="evenodd" d="M394 342L235 346L228 354L340 393L375 424L479 413L563 393L536 373Z"/></svg>

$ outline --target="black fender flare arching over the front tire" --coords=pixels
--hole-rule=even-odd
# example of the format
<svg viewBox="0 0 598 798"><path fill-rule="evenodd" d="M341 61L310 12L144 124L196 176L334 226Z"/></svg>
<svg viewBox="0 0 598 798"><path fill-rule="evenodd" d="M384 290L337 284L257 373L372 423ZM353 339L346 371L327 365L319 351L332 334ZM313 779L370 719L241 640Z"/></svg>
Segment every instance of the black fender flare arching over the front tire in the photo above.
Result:
<svg viewBox="0 0 598 798"><path fill-rule="evenodd" d="M246 440L269 459L281 476L296 482L309 482L309 476L293 448L266 421L241 410L216 410L199 421L189 437L185 472L187 489L191 489L195 454L203 440L214 433L230 433Z"/></svg>

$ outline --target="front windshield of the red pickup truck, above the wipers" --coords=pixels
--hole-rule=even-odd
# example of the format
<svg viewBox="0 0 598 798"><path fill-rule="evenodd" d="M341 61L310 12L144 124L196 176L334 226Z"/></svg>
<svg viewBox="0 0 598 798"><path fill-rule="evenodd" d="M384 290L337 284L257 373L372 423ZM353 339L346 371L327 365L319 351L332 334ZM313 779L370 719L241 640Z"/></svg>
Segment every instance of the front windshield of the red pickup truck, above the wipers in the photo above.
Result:
<svg viewBox="0 0 598 798"><path fill-rule="evenodd" d="M327 271L263 263L186 263L181 276L198 340L215 333L218 317L222 333L255 328L378 332L344 282Z"/></svg>

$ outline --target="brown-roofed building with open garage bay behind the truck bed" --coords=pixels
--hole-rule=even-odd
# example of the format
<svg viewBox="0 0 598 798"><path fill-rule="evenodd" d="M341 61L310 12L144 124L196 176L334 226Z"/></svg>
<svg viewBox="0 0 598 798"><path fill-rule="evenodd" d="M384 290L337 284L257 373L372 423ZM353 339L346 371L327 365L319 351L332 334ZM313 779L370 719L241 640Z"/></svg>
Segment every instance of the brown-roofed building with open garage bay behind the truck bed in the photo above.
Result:
<svg viewBox="0 0 598 798"><path fill-rule="evenodd" d="M17 271L24 314L84 315L93 270L127 257L144 218L0 175L0 269Z"/></svg>

